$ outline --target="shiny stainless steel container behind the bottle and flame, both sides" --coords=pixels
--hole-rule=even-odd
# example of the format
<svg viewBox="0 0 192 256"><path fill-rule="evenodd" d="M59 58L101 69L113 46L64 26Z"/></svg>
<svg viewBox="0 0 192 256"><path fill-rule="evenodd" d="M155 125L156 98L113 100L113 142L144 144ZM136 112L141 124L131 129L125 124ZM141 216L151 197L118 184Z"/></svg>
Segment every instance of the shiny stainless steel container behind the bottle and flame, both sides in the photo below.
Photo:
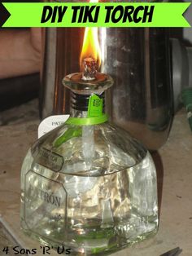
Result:
<svg viewBox="0 0 192 256"><path fill-rule="evenodd" d="M43 118L69 113L69 94L62 79L80 71L84 30L46 29L41 87ZM115 80L107 96L107 113L112 122L129 130L151 150L165 143L172 122L167 30L98 28L101 71Z"/></svg>

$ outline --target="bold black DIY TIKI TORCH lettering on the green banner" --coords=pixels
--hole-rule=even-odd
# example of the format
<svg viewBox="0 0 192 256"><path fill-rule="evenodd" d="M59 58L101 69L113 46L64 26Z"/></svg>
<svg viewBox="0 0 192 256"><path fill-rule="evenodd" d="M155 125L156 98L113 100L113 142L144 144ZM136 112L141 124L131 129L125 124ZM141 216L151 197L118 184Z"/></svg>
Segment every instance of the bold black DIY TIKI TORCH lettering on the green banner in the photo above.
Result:
<svg viewBox="0 0 192 256"><path fill-rule="evenodd" d="M101 7L92 6L72 6L71 23L97 23ZM45 6L42 10L41 23L65 23L67 6ZM103 16L104 23L149 23L152 22L155 6L106 6Z"/></svg>

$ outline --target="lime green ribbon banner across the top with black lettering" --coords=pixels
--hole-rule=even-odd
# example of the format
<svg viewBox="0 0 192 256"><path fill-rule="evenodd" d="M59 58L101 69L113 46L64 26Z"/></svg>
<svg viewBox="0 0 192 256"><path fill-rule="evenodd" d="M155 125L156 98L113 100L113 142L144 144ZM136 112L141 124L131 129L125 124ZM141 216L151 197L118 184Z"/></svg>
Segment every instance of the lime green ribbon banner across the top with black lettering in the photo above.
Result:
<svg viewBox="0 0 192 256"><path fill-rule="evenodd" d="M3 2L3 27L190 27L190 2Z"/></svg>

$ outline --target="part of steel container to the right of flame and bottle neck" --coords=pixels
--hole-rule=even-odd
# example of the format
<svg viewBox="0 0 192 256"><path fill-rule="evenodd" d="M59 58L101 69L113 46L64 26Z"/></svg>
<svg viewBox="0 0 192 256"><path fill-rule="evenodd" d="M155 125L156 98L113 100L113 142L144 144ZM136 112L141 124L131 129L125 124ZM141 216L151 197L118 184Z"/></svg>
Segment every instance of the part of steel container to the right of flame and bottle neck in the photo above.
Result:
<svg viewBox="0 0 192 256"><path fill-rule="evenodd" d="M111 121L150 149L167 139L172 121L169 42L165 29L105 29L102 71L115 79ZM104 33L103 33L104 34Z"/></svg>

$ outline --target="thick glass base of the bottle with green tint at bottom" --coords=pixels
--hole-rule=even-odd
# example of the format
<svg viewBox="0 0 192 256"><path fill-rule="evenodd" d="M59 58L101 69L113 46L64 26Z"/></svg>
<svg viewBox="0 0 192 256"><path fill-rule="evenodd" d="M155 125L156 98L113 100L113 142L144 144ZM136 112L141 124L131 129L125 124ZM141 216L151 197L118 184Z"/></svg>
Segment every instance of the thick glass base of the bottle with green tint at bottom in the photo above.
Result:
<svg viewBox="0 0 192 256"><path fill-rule="evenodd" d="M63 239L63 241L53 241L46 236L41 236L36 232L23 229L23 232L32 239L39 241L42 245L49 246L55 249L59 254L70 255L108 255L115 253L121 249L134 245L138 242L145 241L148 238L155 236L158 227L137 236L118 236L114 235L114 228L105 228L103 231L89 232L89 237L86 235L77 235L73 239ZM74 235L74 234L73 234ZM70 236L70 234L69 234ZM72 234L71 234L72 236ZM67 241L67 242L66 242ZM69 253L70 252L70 253Z"/></svg>

